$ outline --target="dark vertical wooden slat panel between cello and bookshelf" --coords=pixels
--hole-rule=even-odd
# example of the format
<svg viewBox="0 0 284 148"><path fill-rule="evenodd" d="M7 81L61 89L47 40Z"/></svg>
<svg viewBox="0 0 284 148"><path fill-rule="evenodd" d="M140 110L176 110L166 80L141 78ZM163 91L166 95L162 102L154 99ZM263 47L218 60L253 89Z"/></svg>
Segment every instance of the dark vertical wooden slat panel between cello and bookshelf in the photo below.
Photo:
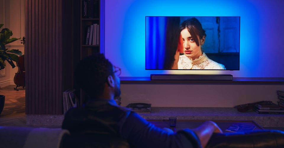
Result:
<svg viewBox="0 0 284 148"><path fill-rule="evenodd" d="M26 114L63 114L72 88L72 1L25 0Z"/></svg>

